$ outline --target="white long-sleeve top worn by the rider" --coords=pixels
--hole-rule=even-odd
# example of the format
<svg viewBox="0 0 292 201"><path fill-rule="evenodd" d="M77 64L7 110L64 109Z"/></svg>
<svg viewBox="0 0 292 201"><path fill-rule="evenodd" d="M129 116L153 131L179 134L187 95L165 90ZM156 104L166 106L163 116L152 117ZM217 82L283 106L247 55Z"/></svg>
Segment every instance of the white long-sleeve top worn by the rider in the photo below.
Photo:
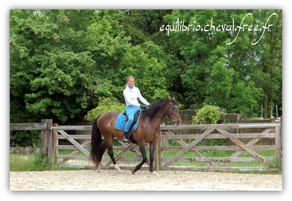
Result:
<svg viewBox="0 0 292 201"><path fill-rule="evenodd" d="M139 104L137 98L139 98L139 100L141 100L141 102L144 103L145 105L150 105L150 103L148 103L142 97L140 90L137 87L135 87L135 85L133 86L132 89L130 89L129 86L127 85L127 87L124 89L123 94L125 97L126 106L134 105L134 106L140 107L140 104Z"/></svg>

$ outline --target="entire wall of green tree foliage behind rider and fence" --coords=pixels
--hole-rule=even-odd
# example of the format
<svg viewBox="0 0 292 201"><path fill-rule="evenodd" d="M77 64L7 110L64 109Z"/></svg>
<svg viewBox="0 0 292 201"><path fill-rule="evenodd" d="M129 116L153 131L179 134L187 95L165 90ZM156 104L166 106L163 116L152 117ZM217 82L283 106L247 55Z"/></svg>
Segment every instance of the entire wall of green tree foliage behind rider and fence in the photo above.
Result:
<svg viewBox="0 0 292 201"><path fill-rule="evenodd" d="M159 30L243 18L273 26L262 37L245 27L231 45L237 32ZM278 105L281 115L282 10L10 10L11 123L70 124L101 101L124 104L129 75L148 102L175 96L181 109L216 103L249 117Z"/></svg>

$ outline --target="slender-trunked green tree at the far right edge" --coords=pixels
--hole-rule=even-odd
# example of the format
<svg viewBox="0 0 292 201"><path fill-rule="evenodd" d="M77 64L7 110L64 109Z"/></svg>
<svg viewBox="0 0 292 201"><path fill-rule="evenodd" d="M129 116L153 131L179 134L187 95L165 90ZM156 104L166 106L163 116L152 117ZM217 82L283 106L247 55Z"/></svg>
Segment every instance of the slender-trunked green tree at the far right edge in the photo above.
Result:
<svg viewBox="0 0 292 201"><path fill-rule="evenodd" d="M273 13L277 15L271 16ZM269 107L278 105L282 110L282 10L261 10L253 17L254 22L259 18L265 24L269 19L268 23L273 25L262 35L253 54L256 65L252 77L256 86L262 88L263 99L259 104L264 103L264 118L267 118ZM261 34L257 37L260 38Z"/></svg>

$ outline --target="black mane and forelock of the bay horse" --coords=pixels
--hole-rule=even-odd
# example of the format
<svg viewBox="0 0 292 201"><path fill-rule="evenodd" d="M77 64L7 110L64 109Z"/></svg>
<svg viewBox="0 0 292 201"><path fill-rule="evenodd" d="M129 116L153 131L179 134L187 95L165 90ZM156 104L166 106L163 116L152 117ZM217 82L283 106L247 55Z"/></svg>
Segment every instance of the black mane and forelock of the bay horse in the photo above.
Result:
<svg viewBox="0 0 292 201"><path fill-rule="evenodd" d="M178 102L174 99L171 99L172 104L175 106L178 106ZM168 100L166 99L159 99L157 101L155 101L153 104L151 104L146 110L143 110L143 112L141 113L141 117L143 119L145 118L149 118L150 120L153 119L156 115L156 113L163 107L165 106L165 104L168 102Z"/></svg>

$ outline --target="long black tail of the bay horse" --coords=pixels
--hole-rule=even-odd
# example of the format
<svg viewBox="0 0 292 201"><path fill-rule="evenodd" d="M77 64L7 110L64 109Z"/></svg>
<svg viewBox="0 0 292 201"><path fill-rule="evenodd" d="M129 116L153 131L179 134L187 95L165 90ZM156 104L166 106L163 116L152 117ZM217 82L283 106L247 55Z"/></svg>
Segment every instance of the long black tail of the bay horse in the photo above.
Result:
<svg viewBox="0 0 292 201"><path fill-rule="evenodd" d="M99 163L101 162L101 152L100 147L102 146L102 138L101 133L99 131L99 128L97 127L97 120L100 117L100 115L93 121L92 124L92 131L91 131L91 149L90 149L90 159L92 162L96 165L96 167L99 166Z"/></svg>

